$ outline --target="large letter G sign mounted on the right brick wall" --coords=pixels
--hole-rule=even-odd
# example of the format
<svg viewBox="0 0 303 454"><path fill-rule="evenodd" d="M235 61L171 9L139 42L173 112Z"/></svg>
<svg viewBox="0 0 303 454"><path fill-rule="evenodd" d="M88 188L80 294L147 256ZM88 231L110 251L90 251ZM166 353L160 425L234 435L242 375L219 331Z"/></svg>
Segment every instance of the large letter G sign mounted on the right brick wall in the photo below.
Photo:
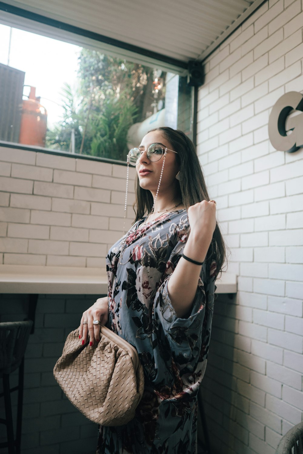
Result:
<svg viewBox="0 0 303 454"><path fill-rule="evenodd" d="M292 153L303 147L303 113L286 120L292 110L303 110L303 95L296 91L283 94L269 115L268 135L276 150ZM287 135L288 131L292 131Z"/></svg>

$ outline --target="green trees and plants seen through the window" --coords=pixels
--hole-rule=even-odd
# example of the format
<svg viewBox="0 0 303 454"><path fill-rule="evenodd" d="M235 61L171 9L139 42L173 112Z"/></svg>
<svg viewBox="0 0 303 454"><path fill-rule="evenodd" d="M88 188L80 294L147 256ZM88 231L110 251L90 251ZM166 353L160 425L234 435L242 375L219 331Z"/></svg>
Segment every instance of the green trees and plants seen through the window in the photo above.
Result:
<svg viewBox="0 0 303 454"><path fill-rule="evenodd" d="M64 84L64 116L48 130L46 147L71 151L74 131L76 153L125 161L128 130L154 100L154 69L81 49L78 76L74 89Z"/></svg>

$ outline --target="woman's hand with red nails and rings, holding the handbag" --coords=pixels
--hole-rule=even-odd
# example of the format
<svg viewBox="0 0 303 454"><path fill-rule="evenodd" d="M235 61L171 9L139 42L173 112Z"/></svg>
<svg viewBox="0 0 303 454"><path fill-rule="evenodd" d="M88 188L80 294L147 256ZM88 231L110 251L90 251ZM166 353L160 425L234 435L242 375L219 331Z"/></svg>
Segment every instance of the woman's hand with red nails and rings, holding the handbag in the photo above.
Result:
<svg viewBox="0 0 303 454"><path fill-rule="evenodd" d="M94 325L93 320L99 320L101 325L106 325L109 319L109 303L107 296L98 298L97 301L83 312L79 326L79 339L82 339L82 345L85 344L87 333L89 333L89 345L94 345L94 341L100 340L100 325ZM87 321L83 325L83 322Z"/></svg>

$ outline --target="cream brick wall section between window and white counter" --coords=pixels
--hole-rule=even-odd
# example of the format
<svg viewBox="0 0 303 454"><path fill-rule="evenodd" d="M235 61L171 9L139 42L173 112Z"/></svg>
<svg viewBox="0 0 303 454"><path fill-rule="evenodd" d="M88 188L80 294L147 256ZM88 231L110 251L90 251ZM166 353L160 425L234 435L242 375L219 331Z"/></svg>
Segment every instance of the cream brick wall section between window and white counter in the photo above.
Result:
<svg viewBox="0 0 303 454"><path fill-rule="evenodd" d="M125 166L0 147L0 175L0 263L104 266L123 233Z"/></svg>

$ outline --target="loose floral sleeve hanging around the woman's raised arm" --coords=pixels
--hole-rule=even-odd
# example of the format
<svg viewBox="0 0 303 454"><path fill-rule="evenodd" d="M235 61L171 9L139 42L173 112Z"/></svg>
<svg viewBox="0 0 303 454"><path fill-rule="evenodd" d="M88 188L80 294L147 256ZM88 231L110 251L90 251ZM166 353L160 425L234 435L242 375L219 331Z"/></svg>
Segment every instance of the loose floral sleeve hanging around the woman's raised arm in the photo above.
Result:
<svg viewBox="0 0 303 454"><path fill-rule="evenodd" d="M169 298L168 282L182 256L189 235L189 224L177 226L176 245L171 252L162 282L154 298L154 324L157 336L165 340L175 362L192 363L193 368L207 359L214 308L216 257L214 239L201 266L197 291L191 310L179 318ZM212 251L212 252L210 252ZM185 284L184 284L185 285Z"/></svg>

